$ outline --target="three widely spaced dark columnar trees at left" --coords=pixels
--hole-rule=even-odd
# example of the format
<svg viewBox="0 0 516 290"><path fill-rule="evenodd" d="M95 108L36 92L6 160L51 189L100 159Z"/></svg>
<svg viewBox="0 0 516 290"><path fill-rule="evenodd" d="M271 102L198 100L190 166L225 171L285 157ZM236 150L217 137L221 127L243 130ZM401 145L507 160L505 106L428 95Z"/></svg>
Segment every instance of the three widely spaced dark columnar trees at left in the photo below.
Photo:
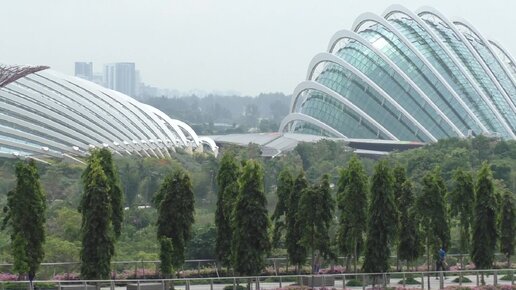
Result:
<svg viewBox="0 0 516 290"><path fill-rule="evenodd" d="M46 198L33 160L18 162L16 177L16 186L8 193L3 209L2 230L10 233L14 272L32 281L44 258ZM78 207L82 215L81 278L109 279L115 243L122 232L124 198L108 149L91 151L82 183ZM154 203L161 271L167 277L184 263L185 245L191 237L194 194L188 174L183 170L171 172Z"/></svg>

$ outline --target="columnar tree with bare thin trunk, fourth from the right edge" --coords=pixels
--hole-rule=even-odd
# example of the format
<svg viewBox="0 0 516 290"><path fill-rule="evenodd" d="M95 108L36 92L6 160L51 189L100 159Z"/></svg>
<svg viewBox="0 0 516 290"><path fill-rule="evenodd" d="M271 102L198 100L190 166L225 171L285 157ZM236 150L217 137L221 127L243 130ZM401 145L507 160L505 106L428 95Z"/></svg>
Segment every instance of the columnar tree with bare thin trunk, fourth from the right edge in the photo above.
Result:
<svg viewBox="0 0 516 290"><path fill-rule="evenodd" d="M425 239L427 270L430 271L430 251L437 258L440 247L447 247L450 239L447 211L444 203L446 189L436 167L423 177L423 190L416 200L417 218ZM430 277L427 280L430 285Z"/></svg>

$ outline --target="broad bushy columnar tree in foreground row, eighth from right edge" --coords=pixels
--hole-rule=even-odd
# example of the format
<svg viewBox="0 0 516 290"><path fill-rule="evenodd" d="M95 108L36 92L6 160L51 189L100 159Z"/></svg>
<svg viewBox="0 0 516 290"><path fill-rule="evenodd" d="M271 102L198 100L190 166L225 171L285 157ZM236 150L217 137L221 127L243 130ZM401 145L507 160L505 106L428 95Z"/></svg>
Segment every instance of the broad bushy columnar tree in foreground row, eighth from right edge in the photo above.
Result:
<svg viewBox="0 0 516 290"><path fill-rule="evenodd" d="M303 231L300 243L311 251L312 271L316 266L316 251L326 258L333 256L329 236L333 205L327 174L323 175L319 185L309 186L301 192L298 221Z"/></svg>

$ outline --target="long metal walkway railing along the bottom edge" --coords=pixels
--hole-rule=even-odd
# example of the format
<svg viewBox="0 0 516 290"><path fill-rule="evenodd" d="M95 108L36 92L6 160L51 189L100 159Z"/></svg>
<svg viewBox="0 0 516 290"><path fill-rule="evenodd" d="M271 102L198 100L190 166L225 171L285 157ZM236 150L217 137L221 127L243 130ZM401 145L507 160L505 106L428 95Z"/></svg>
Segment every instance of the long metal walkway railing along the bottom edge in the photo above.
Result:
<svg viewBox="0 0 516 290"><path fill-rule="evenodd" d="M213 277L181 279L114 279L114 280L48 280L34 281L34 289L45 290L239 290L238 285L252 290L277 290L289 285L312 288L351 288L367 290L389 287L410 289L445 289L449 286L480 286L484 277L487 285L499 289L516 289L515 269L447 271L447 272L391 272L346 273L329 275L278 275L252 277ZM374 284L374 285L373 285ZM28 281L2 281L0 290L30 289ZM503 288L502 288L503 287Z"/></svg>

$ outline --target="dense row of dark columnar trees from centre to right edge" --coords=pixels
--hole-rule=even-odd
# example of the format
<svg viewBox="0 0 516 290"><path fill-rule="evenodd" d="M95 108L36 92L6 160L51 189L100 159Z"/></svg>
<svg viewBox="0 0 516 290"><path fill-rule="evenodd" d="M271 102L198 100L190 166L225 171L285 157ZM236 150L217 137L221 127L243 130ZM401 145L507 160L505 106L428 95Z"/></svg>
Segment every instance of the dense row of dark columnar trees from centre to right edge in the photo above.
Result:
<svg viewBox="0 0 516 290"><path fill-rule="evenodd" d="M268 245L269 227L266 220L258 219L263 218L264 199L254 201L263 196L262 177L254 178L253 187L247 189L250 180L245 168L231 154L222 158L217 176L216 248L223 265L254 275L263 265L260 259L267 247L259 245ZM315 256L334 259L341 254L348 257L348 264L353 261L356 271L363 254L363 271L385 272L393 249L407 265L426 250L430 269L438 250L450 247L450 223L456 219L461 253L470 252L477 268L490 268L497 242L510 259L516 236L514 194L495 183L487 163L477 172L476 182L470 172L457 169L449 192L439 167L427 172L418 185L407 177L405 168L392 168L381 160L369 178L360 159L353 156L340 171L334 200L328 175L311 185L303 171L294 178L285 169L277 180L272 245L284 244L289 261L298 269L308 255L315 268ZM248 198L246 206L240 204L243 196ZM330 235L334 229L336 233ZM239 252L242 235L252 237L245 258Z"/></svg>

